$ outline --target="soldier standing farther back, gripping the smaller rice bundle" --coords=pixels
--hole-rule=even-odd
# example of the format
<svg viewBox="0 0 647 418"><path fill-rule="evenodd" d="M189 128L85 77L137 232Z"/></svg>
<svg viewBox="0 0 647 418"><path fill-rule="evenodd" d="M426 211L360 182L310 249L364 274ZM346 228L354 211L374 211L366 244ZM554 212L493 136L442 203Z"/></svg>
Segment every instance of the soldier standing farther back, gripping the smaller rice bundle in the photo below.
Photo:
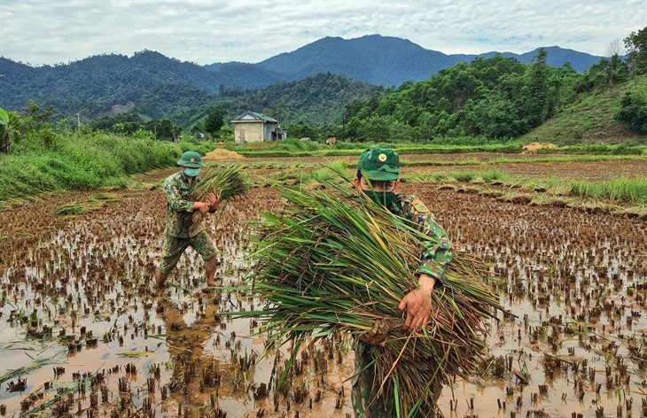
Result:
<svg viewBox="0 0 647 418"><path fill-rule="evenodd" d="M207 286L213 286L216 267L215 245L207 234L204 223L194 223L191 217L194 211L200 211L203 215L214 213L218 199L210 193L207 195L207 202L188 200L191 191L200 181L199 169L204 166L198 152L184 152L177 165L183 166L183 170L169 175L164 181L164 194L168 200L167 227L164 230L162 261L156 272L157 287L164 287L168 275L175 269L177 261L188 246L202 257Z"/></svg>

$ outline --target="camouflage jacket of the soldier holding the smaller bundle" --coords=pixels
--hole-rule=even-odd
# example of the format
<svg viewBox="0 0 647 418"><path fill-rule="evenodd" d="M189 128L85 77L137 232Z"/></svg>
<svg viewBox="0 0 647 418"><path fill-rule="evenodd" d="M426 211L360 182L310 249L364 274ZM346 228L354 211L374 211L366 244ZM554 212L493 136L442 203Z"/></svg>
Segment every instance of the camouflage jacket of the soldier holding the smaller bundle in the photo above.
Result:
<svg viewBox="0 0 647 418"><path fill-rule="evenodd" d="M191 191L200 181L199 177L189 184L189 177L180 171L171 174L164 181L164 195L167 197L167 228L164 233L177 238L191 238L205 229L201 220L192 222L193 204L188 200ZM198 211L196 211L198 212Z"/></svg>

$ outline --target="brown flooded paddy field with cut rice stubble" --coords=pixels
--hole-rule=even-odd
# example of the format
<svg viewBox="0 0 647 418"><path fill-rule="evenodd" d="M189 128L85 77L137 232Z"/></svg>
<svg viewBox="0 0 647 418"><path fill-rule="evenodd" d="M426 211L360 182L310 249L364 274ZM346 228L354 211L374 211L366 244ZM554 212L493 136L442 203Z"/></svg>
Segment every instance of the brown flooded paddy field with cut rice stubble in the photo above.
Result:
<svg viewBox="0 0 647 418"><path fill-rule="evenodd" d="M250 173L321 163L286 161L272 159L274 168ZM645 166L496 168L608 179L646 177ZM469 167L429 169L487 169ZM275 397L264 387L274 383L272 368L285 355L259 359L259 324L218 315L262 307L234 288L253 278L248 221L281 206L275 190L254 188L207 222L221 252L218 277L230 289L202 294L202 263L186 252L168 295L153 294L166 211L159 182L173 171L139 176L157 186L111 191L119 200L90 213L52 211L98 192L52 195L0 212L0 415L352 416L347 336L310 347L303 374ZM516 315L490 324L482 369L445 386L444 416L647 416L647 222L504 203L435 184L402 188L425 201L456 248L487 262L500 279L503 305Z"/></svg>

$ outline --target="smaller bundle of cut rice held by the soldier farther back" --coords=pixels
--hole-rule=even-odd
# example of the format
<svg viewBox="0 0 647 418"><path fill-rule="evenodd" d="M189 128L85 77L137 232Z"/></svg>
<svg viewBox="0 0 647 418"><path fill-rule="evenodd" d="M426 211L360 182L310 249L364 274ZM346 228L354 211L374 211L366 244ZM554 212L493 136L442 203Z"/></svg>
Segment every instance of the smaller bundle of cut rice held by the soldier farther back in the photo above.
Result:
<svg viewBox="0 0 647 418"><path fill-rule="evenodd" d="M249 184L240 174L242 168L243 166L208 167L200 182L191 191L189 198L197 202L205 202L207 195L213 193L222 203L242 196L249 190ZM203 217L199 211L193 211L191 223L196 225L202 221Z"/></svg>

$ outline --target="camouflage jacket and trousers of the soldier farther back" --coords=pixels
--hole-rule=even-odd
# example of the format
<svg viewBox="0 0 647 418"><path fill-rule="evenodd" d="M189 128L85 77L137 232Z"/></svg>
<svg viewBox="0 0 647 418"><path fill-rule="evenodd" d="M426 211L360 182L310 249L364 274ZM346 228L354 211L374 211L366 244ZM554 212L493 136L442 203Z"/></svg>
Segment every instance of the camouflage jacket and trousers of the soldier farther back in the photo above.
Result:
<svg viewBox="0 0 647 418"><path fill-rule="evenodd" d="M215 257L215 246L205 230L204 222L193 225L193 204L187 200L193 188L200 181L195 177L189 184L189 177L183 171L169 175L164 181L164 194L168 200L167 227L162 244L161 274L172 272L177 261L188 246L199 253L204 261ZM211 212L214 212L213 210Z"/></svg>

